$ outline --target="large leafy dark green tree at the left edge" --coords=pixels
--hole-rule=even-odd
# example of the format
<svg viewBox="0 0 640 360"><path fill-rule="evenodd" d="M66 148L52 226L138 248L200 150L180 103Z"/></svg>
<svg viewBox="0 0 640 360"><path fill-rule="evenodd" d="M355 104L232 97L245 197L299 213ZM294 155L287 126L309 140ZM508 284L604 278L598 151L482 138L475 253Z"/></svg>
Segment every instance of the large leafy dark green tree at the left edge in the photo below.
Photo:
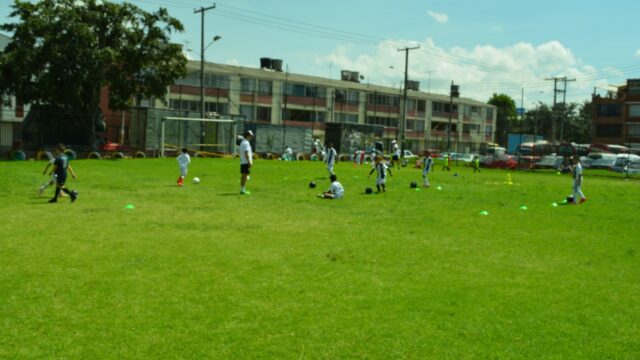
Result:
<svg viewBox="0 0 640 360"><path fill-rule="evenodd" d="M169 38L183 26L166 9L107 0L15 0L12 8L18 22L0 25L13 35L0 53L0 93L74 115L88 144L103 87L110 109L127 110L132 98L164 100L186 74L182 47Z"/></svg>

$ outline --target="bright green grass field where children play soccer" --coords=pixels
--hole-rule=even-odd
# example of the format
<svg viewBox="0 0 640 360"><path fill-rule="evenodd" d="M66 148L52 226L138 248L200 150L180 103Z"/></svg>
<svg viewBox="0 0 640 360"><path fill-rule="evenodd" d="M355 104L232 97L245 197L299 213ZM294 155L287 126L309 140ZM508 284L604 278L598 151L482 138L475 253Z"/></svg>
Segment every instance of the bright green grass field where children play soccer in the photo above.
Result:
<svg viewBox="0 0 640 360"><path fill-rule="evenodd" d="M317 162L258 160L249 196L237 160L183 188L175 159L72 165L78 201L48 204L44 162L0 163L0 358L640 358L638 180L587 171L553 207L569 176L403 168L364 195L339 163L331 201Z"/></svg>

